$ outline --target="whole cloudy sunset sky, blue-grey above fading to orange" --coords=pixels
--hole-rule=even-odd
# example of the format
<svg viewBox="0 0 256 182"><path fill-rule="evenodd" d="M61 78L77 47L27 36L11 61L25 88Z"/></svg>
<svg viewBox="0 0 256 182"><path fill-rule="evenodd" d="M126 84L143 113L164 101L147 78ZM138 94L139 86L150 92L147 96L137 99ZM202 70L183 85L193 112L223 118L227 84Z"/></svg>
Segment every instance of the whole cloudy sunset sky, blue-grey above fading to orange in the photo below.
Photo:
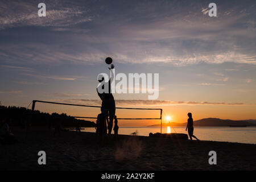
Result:
<svg viewBox="0 0 256 182"><path fill-rule="evenodd" d="M256 119L255 1L214 1L216 17L212 1L40 2L0 1L2 105L100 105L110 56L116 73L159 73L157 100L114 94L117 106L162 108L173 122Z"/></svg>

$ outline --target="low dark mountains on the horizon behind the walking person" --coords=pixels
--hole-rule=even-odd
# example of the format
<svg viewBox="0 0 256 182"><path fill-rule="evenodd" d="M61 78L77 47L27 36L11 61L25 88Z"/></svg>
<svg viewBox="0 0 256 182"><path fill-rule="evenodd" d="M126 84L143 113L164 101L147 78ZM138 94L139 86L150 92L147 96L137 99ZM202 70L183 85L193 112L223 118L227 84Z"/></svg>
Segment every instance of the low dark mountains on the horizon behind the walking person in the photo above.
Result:
<svg viewBox="0 0 256 182"><path fill-rule="evenodd" d="M160 126L151 125L151 126ZM187 126L186 123L163 123L162 126ZM194 121L194 126L256 126L256 119L249 120L230 120L230 119L219 119L219 118L204 118Z"/></svg>

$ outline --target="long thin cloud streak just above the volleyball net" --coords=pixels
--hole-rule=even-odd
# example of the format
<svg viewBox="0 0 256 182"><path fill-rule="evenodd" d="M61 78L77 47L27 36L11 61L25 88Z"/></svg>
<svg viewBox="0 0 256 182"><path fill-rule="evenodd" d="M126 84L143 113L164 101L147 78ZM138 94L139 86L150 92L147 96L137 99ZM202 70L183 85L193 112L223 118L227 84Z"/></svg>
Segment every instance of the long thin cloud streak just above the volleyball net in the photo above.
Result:
<svg viewBox="0 0 256 182"><path fill-rule="evenodd" d="M86 105L101 105L101 100L89 100L89 99L69 99L63 100L64 102L72 104L86 104ZM168 101L168 100L115 100L117 107L119 106L172 106L172 105L246 105L241 102L195 102L195 101Z"/></svg>

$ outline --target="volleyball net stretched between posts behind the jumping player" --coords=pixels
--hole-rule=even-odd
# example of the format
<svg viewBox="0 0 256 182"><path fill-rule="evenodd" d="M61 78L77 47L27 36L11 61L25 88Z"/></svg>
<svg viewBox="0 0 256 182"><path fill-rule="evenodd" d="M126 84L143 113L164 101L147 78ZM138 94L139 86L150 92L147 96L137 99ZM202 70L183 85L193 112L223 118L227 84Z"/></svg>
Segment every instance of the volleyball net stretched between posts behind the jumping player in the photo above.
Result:
<svg viewBox="0 0 256 182"><path fill-rule="evenodd" d="M32 101L31 109L49 114L64 113L77 119L90 119L92 121L96 121L97 115L101 113L101 106L68 104L39 100ZM115 115L117 115L118 120L152 122L158 121L153 123L161 123L161 128L162 111L163 110L159 108L115 107Z"/></svg>

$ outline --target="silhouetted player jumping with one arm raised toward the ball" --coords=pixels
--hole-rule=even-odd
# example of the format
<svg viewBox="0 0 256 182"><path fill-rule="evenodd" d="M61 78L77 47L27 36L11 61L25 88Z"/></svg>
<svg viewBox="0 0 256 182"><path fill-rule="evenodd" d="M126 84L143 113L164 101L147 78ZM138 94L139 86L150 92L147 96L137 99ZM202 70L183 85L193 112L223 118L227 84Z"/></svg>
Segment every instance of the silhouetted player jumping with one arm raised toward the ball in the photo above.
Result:
<svg viewBox="0 0 256 182"><path fill-rule="evenodd" d="M109 123L108 123L108 130L109 130L109 136L112 132L112 128L113 128L113 119L115 116L115 100L114 97L112 95L112 90L111 90L111 82L113 81L113 69L114 69L114 65L111 64L110 69L110 79L109 79L109 89L108 89L108 93L99 93L98 92L98 88L97 88L97 93L98 96L101 98L102 100L102 104L101 104L101 113L104 114L104 116L107 118L109 115ZM102 82L104 81L104 77L102 77L100 80L98 80L98 82ZM104 84L102 85L102 90L104 90Z"/></svg>

